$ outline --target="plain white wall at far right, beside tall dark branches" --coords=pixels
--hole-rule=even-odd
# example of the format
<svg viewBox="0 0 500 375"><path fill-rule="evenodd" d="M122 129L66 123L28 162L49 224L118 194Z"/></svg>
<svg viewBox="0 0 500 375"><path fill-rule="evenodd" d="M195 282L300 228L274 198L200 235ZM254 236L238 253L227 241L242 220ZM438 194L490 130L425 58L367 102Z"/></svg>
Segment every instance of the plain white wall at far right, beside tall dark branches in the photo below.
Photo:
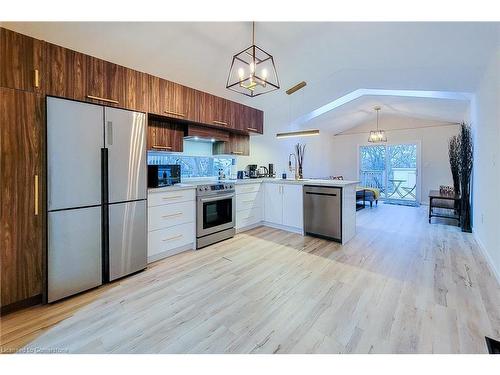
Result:
<svg viewBox="0 0 500 375"><path fill-rule="evenodd" d="M500 280L500 50L491 60L473 100L473 231Z"/></svg>

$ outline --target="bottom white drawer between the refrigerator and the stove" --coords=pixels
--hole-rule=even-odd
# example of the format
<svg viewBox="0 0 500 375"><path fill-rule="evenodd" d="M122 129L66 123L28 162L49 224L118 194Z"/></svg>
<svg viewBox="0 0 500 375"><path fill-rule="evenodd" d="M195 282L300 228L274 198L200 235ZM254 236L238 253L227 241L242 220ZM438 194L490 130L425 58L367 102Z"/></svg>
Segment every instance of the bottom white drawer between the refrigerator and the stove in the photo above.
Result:
<svg viewBox="0 0 500 375"><path fill-rule="evenodd" d="M195 242L195 224L187 223L148 233L148 256Z"/></svg>

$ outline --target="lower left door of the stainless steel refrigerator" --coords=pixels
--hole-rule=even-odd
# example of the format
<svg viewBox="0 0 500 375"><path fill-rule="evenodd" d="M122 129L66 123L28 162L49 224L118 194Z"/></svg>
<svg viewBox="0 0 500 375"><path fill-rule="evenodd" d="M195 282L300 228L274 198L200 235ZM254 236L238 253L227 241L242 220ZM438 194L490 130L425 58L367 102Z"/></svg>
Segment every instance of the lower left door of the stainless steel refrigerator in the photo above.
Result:
<svg viewBox="0 0 500 375"><path fill-rule="evenodd" d="M102 284L101 206L48 213L48 302Z"/></svg>

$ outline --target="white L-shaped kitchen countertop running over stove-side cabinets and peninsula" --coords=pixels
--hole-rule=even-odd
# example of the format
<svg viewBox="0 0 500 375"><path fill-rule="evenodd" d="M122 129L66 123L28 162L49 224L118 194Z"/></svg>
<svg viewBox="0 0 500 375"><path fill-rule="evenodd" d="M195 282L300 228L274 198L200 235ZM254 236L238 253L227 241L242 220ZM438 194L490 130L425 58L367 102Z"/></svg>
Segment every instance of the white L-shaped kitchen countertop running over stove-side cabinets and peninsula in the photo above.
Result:
<svg viewBox="0 0 500 375"><path fill-rule="evenodd" d="M213 181L190 181L189 183L181 183L173 186L167 186L162 188L150 188L148 189L149 193L161 193L166 191L176 191L176 190L186 190L186 189L195 189L196 185L199 184L209 184L219 182L217 180ZM350 180L320 180L320 179L303 179L303 180L293 180L293 179L282 179L282 178L247 178L243 180L223 180L220 182L225 183L234 183L235 185L245 185L245 184L261 184L263 182L272 183L272 184L291 184L291 185L322 185L322 186L334 186L334 187L343 187L349 185L355 185L359 181L350 181Z"/></svg>

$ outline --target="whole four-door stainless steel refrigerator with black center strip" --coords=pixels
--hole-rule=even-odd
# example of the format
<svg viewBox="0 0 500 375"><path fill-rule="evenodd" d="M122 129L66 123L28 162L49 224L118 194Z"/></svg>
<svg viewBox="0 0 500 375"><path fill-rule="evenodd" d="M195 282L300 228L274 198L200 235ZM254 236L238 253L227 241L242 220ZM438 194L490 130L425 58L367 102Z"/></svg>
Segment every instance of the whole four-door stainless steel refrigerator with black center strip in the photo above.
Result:
<svg viewBox="0 0 500 375"><path fill-rule="evenodd" d="M47 301L146 267L146 115L47 97Z"/></svg>

